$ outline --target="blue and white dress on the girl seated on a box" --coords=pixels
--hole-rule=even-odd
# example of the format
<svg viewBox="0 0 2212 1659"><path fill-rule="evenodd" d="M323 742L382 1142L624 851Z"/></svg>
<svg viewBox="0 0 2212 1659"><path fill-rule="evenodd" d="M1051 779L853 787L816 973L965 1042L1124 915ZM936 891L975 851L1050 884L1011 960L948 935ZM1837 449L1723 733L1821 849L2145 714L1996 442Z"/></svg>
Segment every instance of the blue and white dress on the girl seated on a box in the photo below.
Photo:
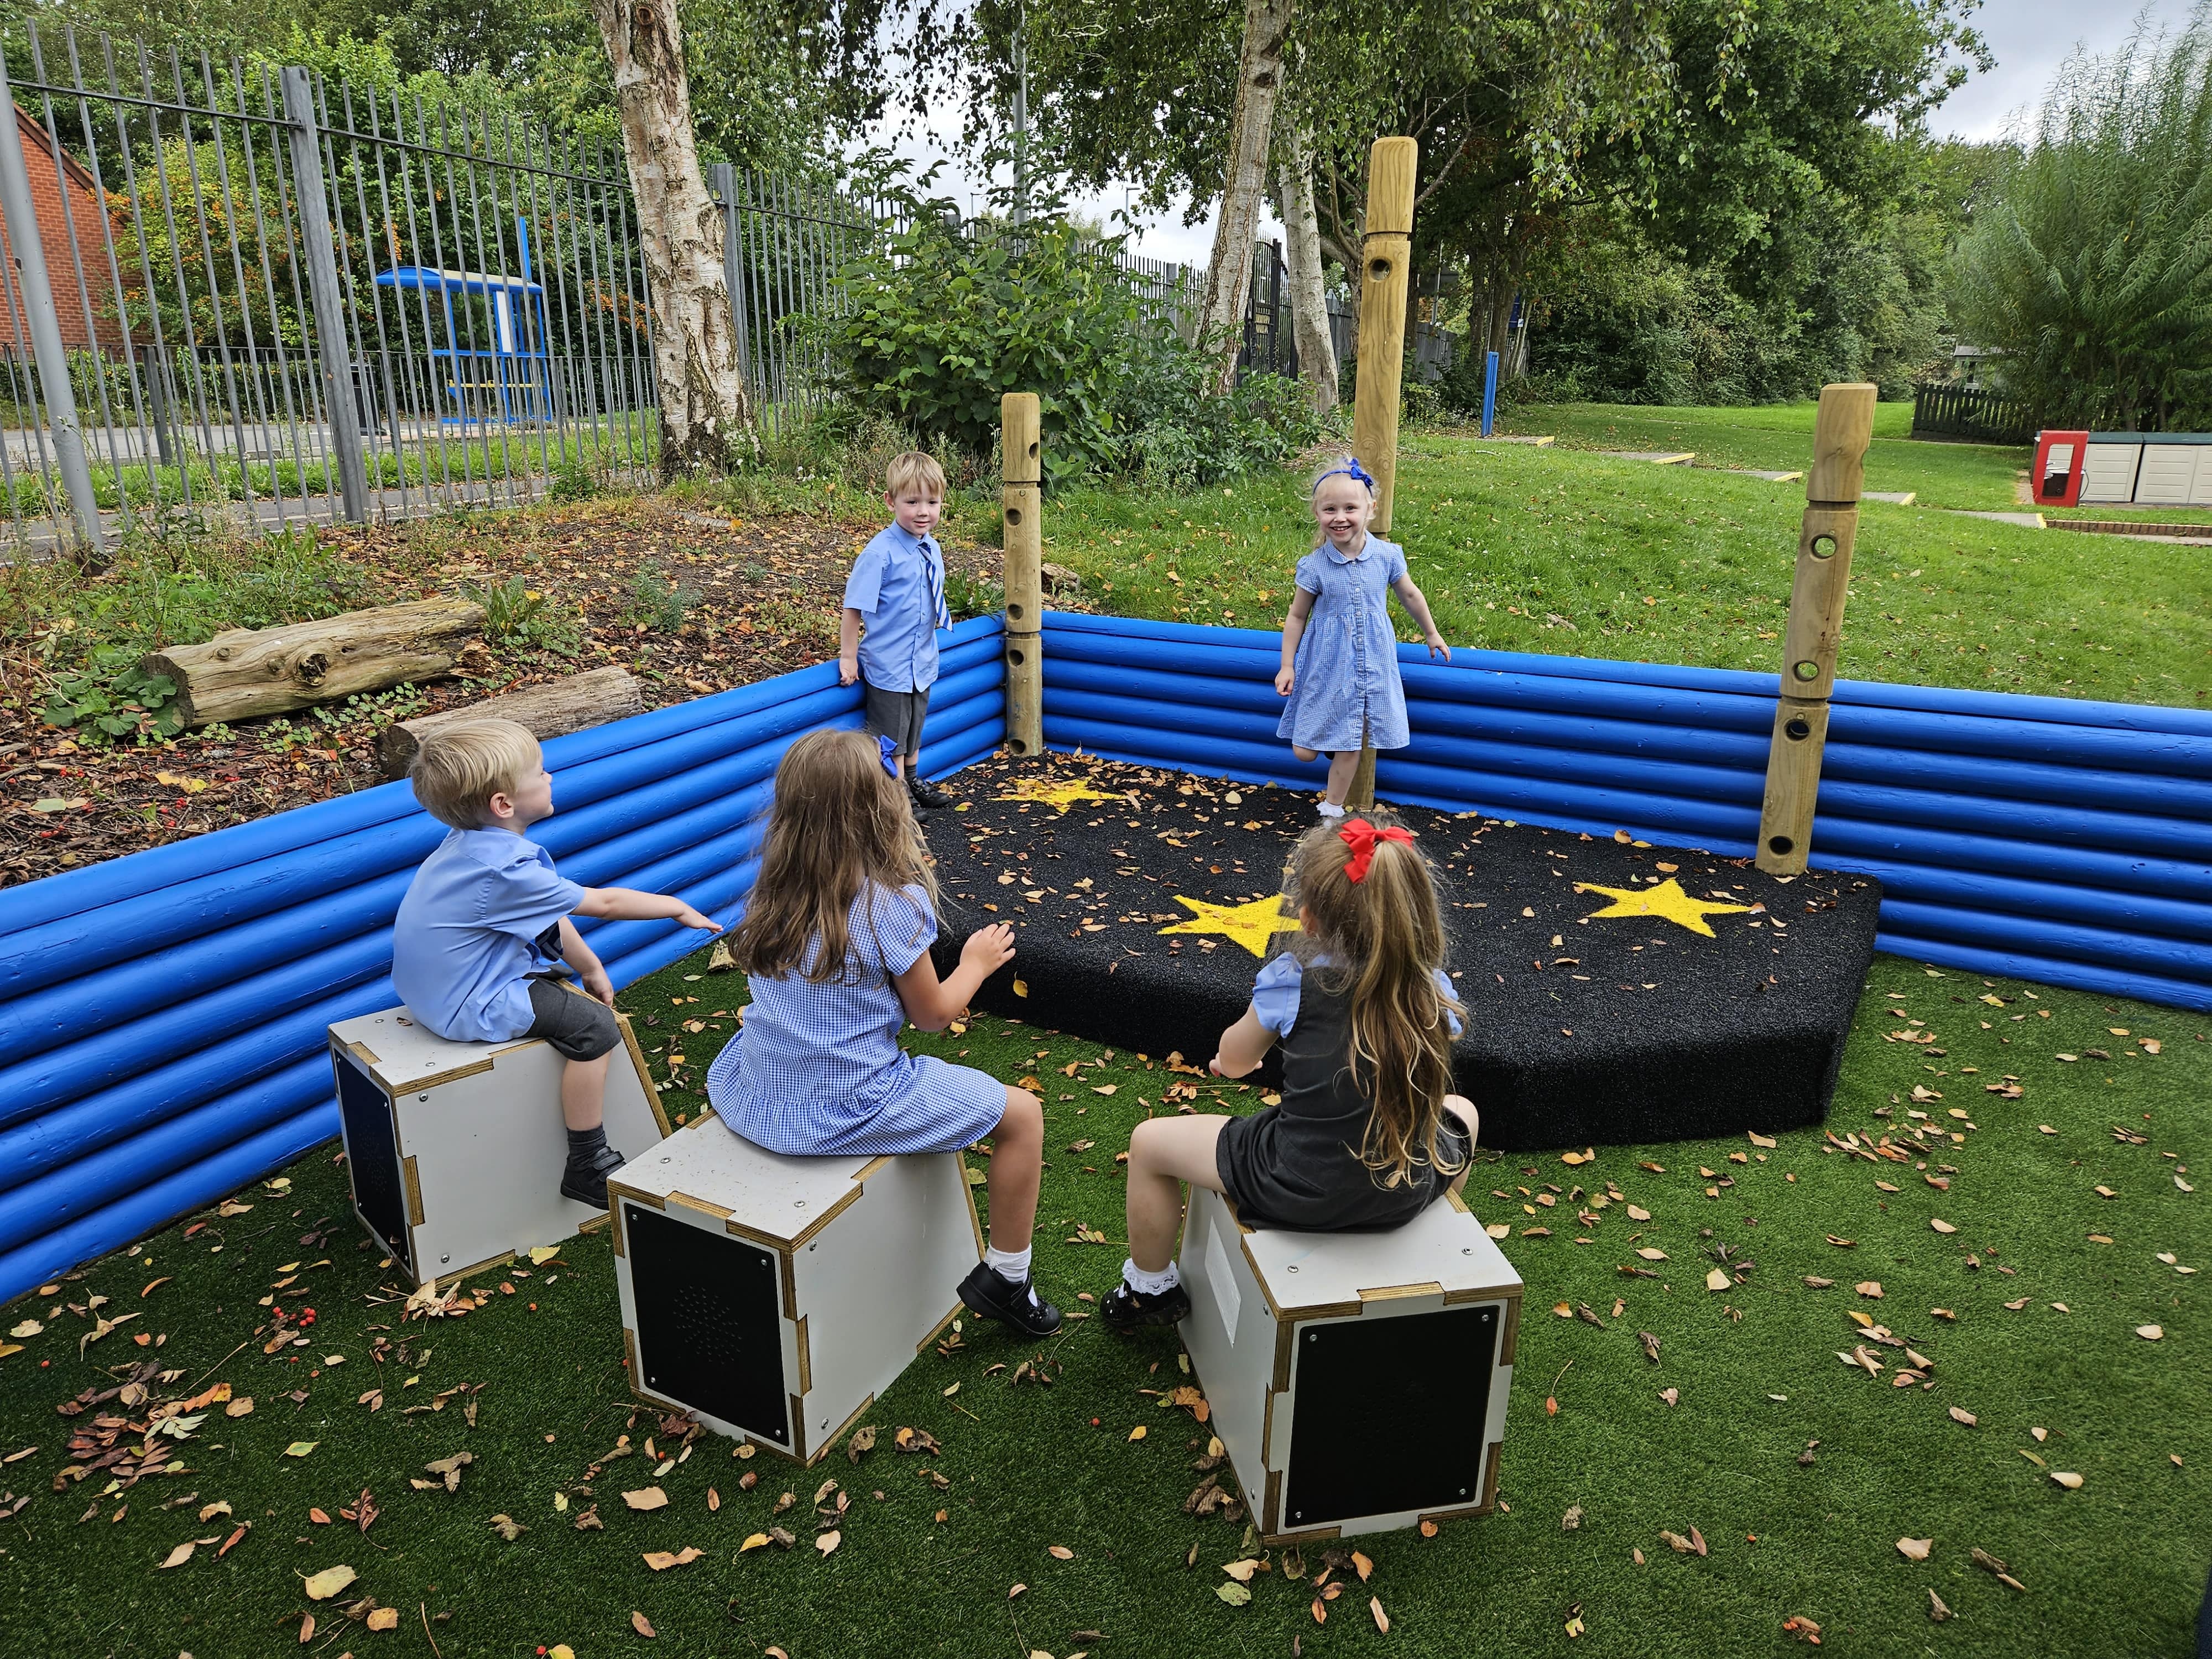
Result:
<svg viewBox="0 0 2212 1659"><path fill-rule="evenodd" d="M706 1073L714 1113L754 1146L794 1157L951 1152L989 1135L1006 1113L1004 1084L898 1046L907 1011L891 980L938 936L929 896L869 883L845 927L841 980L752 980L745 1024Z"/></svg>

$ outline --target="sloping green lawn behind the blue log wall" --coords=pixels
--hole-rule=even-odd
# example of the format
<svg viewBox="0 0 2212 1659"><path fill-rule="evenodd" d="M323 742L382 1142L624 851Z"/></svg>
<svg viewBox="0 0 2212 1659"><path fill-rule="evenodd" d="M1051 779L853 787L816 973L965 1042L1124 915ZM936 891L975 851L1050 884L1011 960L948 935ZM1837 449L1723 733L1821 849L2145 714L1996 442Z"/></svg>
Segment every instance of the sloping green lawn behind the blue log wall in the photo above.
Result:
<svg viewBox="0 0 2212 1659"><path fill-rule="evenodd" d="M1809 405L1721 414L1770 418L1750 427L1770 460L1805 462ZM1774 672L1803 509L1798 484L1409 431L1391 540L1455 646ZM978 518L964 502L953 531ZM1188 495L1077 489L1044 509L1046 560L1082 573L1102 611L1250 628L1281 626L1312 535L1292 473ZM1867 502L1840 672L2203 706L2208 599L2199 549Z"/></svg>

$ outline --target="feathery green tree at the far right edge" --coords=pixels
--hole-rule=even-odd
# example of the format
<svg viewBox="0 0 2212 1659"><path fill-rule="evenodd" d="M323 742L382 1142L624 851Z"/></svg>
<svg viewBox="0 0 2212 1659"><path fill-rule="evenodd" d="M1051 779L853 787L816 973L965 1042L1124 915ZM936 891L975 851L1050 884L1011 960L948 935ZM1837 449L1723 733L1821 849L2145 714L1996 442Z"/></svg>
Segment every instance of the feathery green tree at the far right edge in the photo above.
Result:
<svg viewBox="0 0 2212 1659"><path fill-rule="evenodd" d="M2073 58L1960 248L1958 319L2051 425L2212 427L2212 7Z"/></svg>

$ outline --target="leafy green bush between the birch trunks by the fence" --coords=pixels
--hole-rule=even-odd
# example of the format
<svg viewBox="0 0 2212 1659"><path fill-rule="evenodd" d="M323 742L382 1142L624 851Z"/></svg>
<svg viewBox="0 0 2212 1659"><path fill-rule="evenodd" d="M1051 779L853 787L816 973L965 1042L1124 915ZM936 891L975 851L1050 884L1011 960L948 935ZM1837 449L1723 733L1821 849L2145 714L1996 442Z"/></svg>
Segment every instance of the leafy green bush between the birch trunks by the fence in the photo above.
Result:
<svg viewBox="0 0 2212 1659"><path fill-rule="evenodd" d="M1035 389L1048 484L1124 471L1203 484L1318 436L1276 376L1210 396L1208 358L1148 305L1110 241L1055 217L1015 232L911 208L907 230L845 268L852 310L825 323L860 409L987 456L1000 396Z"/></svg>

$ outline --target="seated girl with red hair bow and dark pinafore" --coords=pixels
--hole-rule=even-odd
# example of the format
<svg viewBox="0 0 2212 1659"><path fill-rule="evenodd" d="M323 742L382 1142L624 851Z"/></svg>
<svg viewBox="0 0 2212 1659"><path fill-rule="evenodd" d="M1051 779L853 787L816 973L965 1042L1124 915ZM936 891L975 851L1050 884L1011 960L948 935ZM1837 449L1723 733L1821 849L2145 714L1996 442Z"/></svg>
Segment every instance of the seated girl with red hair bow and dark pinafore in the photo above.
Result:
<svg viewBox="0 0 2212 1659"><path fill-rule="evenodd" d="M1128 1250L1099 1305L1115 1329L1190 1312L1175 1265L1181 1183L1245 1225L1380 1232L1467 1181L1475 1108L1451 1093L1460 1006L1444 918L1413 836L1380 814L1323 821L1292 854L1298 933L1221 1033L1217 1077L1283 1044L1283 1104L1252 1117L1155 1117L1128 1144Z"/></svg>

